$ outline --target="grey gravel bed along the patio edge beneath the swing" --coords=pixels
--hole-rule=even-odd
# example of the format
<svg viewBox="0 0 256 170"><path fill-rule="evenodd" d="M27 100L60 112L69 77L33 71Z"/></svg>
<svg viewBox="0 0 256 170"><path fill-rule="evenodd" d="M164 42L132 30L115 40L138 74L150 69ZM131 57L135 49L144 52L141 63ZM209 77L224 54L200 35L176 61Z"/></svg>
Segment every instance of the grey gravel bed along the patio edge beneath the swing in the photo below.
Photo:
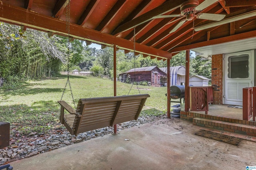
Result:
<svg viewBox="0 0 256 170"><path fill-rule="evenodd" d="M140 115L138 120L118 124L117 131L165 118L166 115ZM78 136L74 136L70 135L66 129L62 128L58 130L52 130L48 134L31 133L28 137L16 137L11 135L10 146L4 149L0 149L0 165L65 147L67 145L72 145L74 143L87 141L92 138L101 137L113 132L113 127L104 127L93 131L80 133Z"/></svg>

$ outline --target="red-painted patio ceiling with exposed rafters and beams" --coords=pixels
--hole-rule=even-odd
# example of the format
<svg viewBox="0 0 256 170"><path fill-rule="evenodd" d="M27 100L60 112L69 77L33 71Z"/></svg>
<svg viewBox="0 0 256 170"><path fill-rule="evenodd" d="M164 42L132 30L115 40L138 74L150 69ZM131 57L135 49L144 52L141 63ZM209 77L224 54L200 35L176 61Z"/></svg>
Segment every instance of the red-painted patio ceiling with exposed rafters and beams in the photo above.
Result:
<svg viewBox="0 0 256 170"><path fill-rule="evenodd" d="M135 27L136 53L159 60L170 59L187 49L256 37L255 0L198 0L199 4L213 3L196 15L224 14L225 18L212 21L194 16L170 33L186 17L158 16L180 14L180 5L186 1L70 0L68 33L68 0L0 0L0 21L20 25L24 31L32 28L46 31L49 36L81 39L87 45L92 42L102 44L102 48L117 45L125 52L133 51Z"/></svg>

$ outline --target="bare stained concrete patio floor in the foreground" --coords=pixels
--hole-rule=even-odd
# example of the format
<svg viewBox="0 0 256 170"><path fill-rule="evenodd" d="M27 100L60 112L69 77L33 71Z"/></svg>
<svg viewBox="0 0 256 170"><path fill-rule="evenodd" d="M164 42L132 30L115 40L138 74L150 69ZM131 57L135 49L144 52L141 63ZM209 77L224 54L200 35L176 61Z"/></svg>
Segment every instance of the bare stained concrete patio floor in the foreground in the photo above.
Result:
<svg viewBox="0 0 256 170"><path fill-rule="evenodd" d="M14 170L243 170L256 166L256 143L242 141L235 146L194 135L200 129L172 117L10 164Z"/></svg>

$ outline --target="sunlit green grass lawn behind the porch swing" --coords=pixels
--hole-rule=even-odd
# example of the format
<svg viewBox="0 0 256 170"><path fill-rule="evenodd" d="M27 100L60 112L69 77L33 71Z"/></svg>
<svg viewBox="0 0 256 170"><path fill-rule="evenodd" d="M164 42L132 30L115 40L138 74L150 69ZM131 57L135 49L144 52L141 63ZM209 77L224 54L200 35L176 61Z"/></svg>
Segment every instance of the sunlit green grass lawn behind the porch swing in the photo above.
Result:
<svg viewBox="0 0 256 170"><path fill-rule="evenodd" d="M12 134L47 133L60 127L57 101L62 96L66 76L30 81L13 90L0 90L0 121L10 122ZM90 76L70 76L74 101L80 98L113 96L113 81ZM130 95L139 94L133 85ZM141 94L149 94L142 115L166 113L166 87L138 86ZM128 95L130 84L117 82L117 96ZM69 86L62 100L74 106Z"/></svg>

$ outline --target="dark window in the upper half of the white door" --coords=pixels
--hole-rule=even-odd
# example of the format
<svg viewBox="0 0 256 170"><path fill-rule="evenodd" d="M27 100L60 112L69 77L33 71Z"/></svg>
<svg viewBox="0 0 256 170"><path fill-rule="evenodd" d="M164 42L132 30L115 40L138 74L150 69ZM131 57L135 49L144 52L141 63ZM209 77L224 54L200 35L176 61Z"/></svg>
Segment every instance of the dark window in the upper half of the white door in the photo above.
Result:
<svg viewBox="0 0 256 170"><path fill-rule="evenodd" d="M228 78L249 77L249 55L228 57Z"/></svg>

